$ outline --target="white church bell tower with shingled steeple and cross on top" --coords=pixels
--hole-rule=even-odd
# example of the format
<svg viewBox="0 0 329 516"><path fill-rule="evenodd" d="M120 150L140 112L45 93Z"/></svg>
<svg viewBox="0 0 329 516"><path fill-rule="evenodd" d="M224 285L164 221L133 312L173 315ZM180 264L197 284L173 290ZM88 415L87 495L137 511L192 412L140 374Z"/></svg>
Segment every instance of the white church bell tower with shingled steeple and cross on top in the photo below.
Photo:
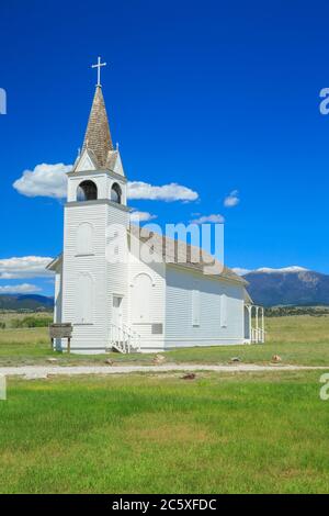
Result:
<svg viewBox="0 0 329 516"><path fill-rule="evenodd" d="M63 321L73 325L71 349L104 352L115 304L127 317L127 263L109 260L111 227L129 222L127 179L114 149L102 87L101 64L82 150L67 173L64 217ZM65 343L63 343L65 344Z"/></svg>

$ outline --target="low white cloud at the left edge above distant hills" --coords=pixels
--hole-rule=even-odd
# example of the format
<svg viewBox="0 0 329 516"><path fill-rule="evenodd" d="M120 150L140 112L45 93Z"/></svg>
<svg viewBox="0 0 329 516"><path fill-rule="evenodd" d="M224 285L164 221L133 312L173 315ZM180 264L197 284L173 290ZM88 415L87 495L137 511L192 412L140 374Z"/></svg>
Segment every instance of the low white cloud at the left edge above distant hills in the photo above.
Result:
<svg viewBox="0 0 329 516"><path fill-rule="evenodd" d="M24 256L0 260L0 279L13 280L23 278L44 278L53 274L46 266L53 260L49 257Z"/></svg>

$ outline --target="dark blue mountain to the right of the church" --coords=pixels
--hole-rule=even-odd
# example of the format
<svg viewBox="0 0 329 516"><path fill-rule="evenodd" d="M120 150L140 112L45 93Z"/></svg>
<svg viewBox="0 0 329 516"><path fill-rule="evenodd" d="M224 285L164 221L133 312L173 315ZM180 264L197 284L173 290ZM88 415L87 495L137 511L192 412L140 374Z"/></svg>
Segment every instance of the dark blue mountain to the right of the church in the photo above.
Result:
<svg viewBox="0 0 329 516"><path fill-rule="evenodd" d="M242 274L256 304L329 305L329 276L303 267L262 268Z"/></svg>

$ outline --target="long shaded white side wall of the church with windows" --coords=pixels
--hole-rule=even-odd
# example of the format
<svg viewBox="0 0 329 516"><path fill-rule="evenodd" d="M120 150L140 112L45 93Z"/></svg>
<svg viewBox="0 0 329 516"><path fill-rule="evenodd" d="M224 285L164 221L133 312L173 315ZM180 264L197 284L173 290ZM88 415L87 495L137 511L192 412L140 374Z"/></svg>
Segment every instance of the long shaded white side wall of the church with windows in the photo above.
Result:
<svg viewBox="0 0 329 516"><path fill-rule="evenodd" d="M242 285L170 266L166 278L167 347L243 341Z"/></svg>

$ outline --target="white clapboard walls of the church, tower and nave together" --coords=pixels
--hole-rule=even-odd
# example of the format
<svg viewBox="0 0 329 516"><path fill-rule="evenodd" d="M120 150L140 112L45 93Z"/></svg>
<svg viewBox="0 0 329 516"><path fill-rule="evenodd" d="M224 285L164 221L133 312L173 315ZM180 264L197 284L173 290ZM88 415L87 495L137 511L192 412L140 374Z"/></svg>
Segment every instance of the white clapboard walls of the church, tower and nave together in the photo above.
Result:
<svg viewBox="0 0 329 516"><path fill-rule="evenodd" d="M140 335L143 351L242 344L241 283L145 263L131 253L109 261L109 224L125 225L127 216L106 202L66 206L60 310L61 322L73 324L72 349L102 352L110 345L113 296L123 298L122 321Z"/></svg>

